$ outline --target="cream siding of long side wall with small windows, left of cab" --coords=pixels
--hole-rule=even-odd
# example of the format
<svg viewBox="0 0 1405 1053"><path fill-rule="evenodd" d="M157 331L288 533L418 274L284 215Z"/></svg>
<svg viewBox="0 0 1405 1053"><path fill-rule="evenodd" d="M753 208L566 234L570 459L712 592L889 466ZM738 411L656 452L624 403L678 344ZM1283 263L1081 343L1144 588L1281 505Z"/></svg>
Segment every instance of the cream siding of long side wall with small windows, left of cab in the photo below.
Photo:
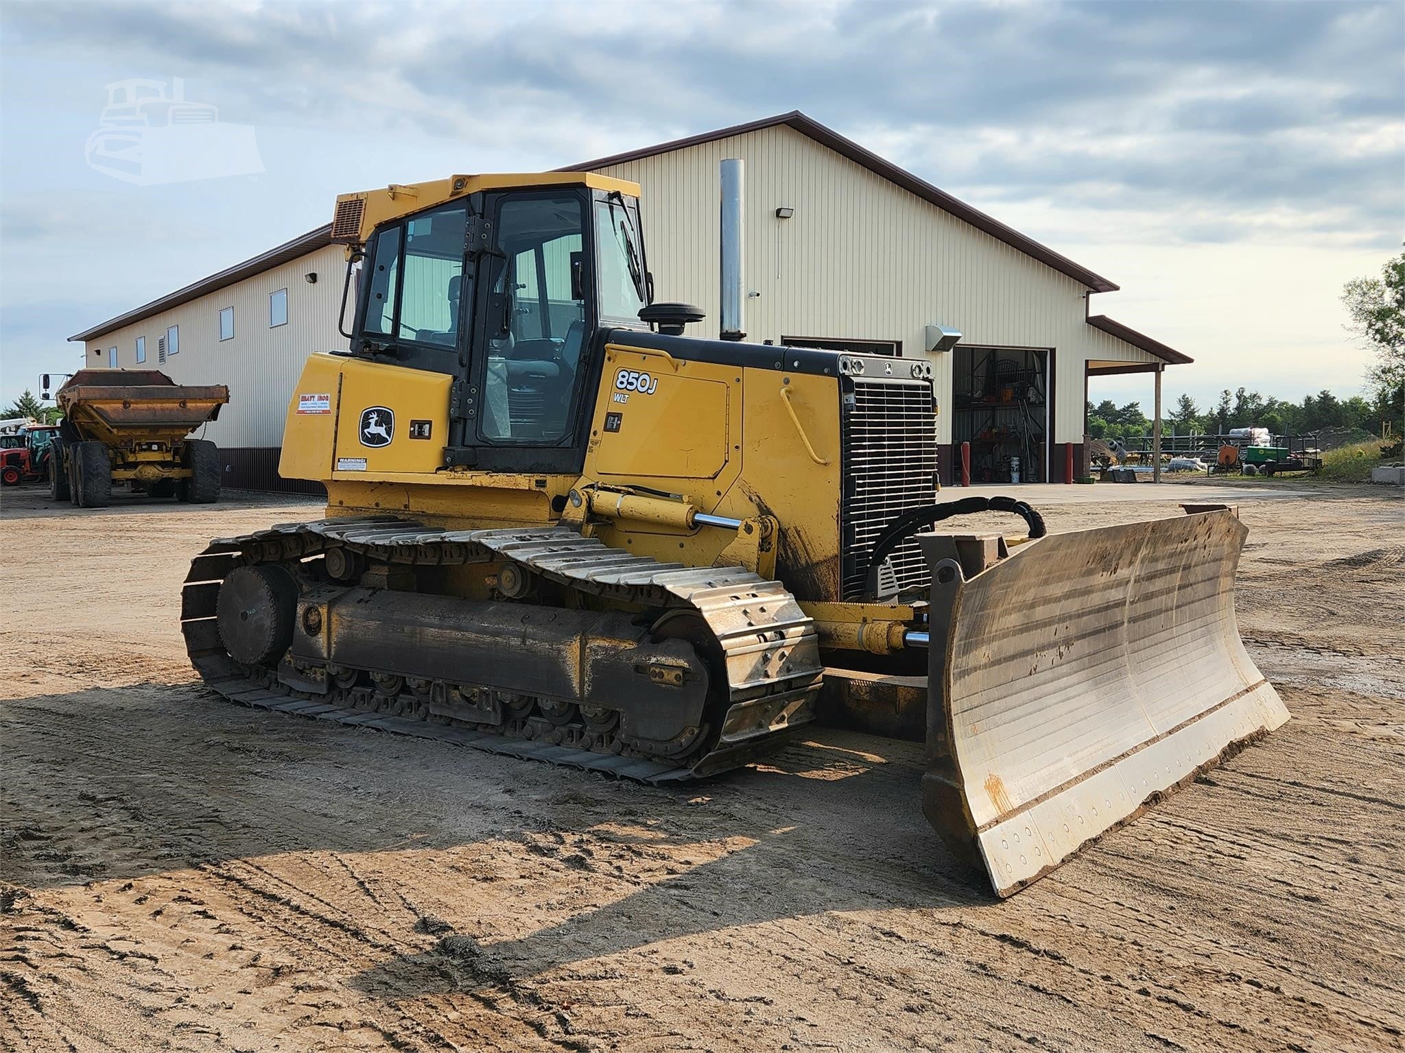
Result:
<svg viewBox="0 0 1405 1053"><path fill-rule="evenodd" d="M318 275L309 285L305 275ZM226 449L282 445L282 424L303 359L313 351L347 347L337 333L346 258L340 246L327 246L292 263L211 292L178 307L87 341L84 361L107 365L107 348L117 344L118 365L132 369L136 337L146 337L143 369L160 369L176 383L229 385L229 404L204 437ZM268 326L268 296L288 291L288 323ZM219 312L235 309L235 338L219 338ZM351 307L347 305L350 313ZM156 340L170 326L180 327L180 352L162 365ZM347 326L350 329L350 326ZM94 355L94 348L101 355Z"/></svg>

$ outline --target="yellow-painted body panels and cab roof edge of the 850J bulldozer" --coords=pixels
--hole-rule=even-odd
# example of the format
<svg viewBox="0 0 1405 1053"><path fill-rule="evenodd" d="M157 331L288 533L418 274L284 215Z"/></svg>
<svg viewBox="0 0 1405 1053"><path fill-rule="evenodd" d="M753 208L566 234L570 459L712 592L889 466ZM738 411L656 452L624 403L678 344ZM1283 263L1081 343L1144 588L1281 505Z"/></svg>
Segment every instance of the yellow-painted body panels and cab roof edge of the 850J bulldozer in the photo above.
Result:
<svg viewBox="0 0 1405 1053"><path fill-rule="evenodd" d="M620 180L548 173L455 176L339 201L365 202L360 232L365 239L388 219L450 198L541 185L638 194L636 185ZM754 354L756 365L738 366L608 345L600 388L586 393L594 403L579 476L445 469L450 376L312 355L289 404L280 470L285 477L326 484L329 515L392 512L461 529L565 518L606 545L667 563L705 567L740 562L771 573L774 560L776 576L798 598L835 601L842 494L839 378L787 372L784 348L754 348ZM308 411L301 396L326 396L329 411ZM313 397L312 404L319 400ZM395 416L385 445L362 442L362 414L372 407ZM429 439L410 438L416 420L429 423ZM573 489L625 493L651 514L586 517L566 500ZM753 532L764 529L764 536L690 526L688 507L745 521ZM865 612L857 622L910 616L906 609L887 616ZM850 622L853 616L833 621Z"/></svg>

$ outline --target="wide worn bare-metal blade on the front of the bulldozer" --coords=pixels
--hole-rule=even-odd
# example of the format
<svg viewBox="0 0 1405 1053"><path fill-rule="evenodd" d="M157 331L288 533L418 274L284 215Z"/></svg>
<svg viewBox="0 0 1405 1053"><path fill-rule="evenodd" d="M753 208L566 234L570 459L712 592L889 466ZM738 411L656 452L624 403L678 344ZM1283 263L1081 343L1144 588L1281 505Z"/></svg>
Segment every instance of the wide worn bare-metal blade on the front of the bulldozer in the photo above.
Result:
<svg viewBox="0 0 1405 1053"><path fill-rule="evenodd" d="M1246 534L1228 510L1057 534L969 580L941 535L919 535L923 812L996 894L1288 719L1235 622Z"/></svg>

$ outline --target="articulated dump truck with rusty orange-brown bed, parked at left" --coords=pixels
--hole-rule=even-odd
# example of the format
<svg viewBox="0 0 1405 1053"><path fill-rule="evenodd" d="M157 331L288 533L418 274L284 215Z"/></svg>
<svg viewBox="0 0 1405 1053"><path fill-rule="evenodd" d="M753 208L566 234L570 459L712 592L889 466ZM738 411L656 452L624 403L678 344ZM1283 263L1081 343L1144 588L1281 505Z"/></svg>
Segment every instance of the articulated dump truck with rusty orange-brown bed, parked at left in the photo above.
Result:
<svg viewBox="0 0 1405 1053"><path fill-rule="evenodd" d="M55 400L63 410L49 458L55 501L105 508L122 483L153 497L219 500L219 449L190 432L219 417L225 385L177 385L157 369L80 369Z"/></svg>

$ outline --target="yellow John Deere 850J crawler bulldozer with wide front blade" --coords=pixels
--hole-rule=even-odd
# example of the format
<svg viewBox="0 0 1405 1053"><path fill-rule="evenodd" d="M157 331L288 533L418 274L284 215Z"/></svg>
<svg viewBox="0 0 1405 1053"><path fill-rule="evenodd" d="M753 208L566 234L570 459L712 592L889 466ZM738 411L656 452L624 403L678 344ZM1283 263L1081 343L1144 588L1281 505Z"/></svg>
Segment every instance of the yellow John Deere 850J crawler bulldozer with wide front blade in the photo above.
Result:
<svg viewBox="0 0 1405 1053"><path fill-rule="evenodd" d="M999 896L1287 719L1231 510L1050 535L939 501L930 364L684 336L638 192L339 198L350 351L308 359L280 466L326 518L195 557L214 691L648 782L815 720L923 741L922 810ZM1019 532L948 532L991 511Z"/></svg>

